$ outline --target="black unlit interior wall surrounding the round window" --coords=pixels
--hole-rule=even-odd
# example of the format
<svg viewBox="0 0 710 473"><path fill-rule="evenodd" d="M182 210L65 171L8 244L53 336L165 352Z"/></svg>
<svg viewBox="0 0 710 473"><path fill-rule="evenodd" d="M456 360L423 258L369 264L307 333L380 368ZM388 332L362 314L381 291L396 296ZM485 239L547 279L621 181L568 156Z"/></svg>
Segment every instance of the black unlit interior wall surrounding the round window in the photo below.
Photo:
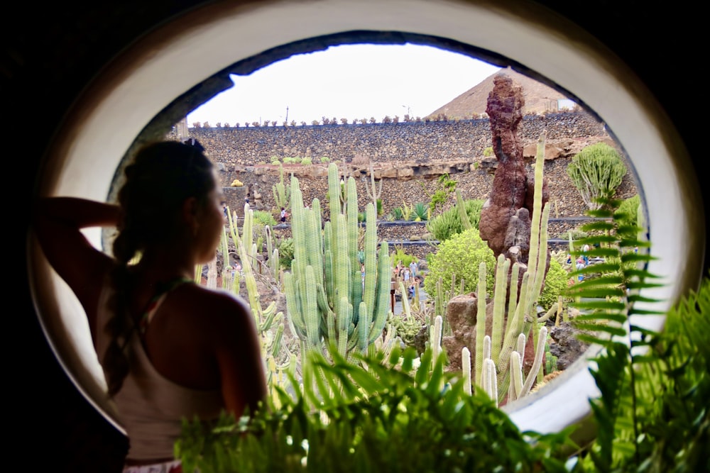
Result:
<svg viewBox="0 0 710 473"><path fill-rule="evenodd" d="M12 210L5 217L6 252L24 254L40 157L82 87L132 40L199 3L17 2L6 7L0 33L0 91L4 129L9 130L4 139L4 200ZM704 16L699 7L630 0L539 3L588 30L635 70L671 116L701 175L704 154L696 122L706 117L696 91L704 84L694 83L692 74L703 67L699 60L704 55L693 52L701 46ZM704 199L707 203L706 195ZM705 258L707 274L707 257L698 257ZM125 440L84 401L55 361L34 313L25 260L20 259L6 266L13 282L4 291L11 321L4 343L10 368L3 382L11 418L6 434L12 439L6 451L30 471L120 471Z"/></svg>

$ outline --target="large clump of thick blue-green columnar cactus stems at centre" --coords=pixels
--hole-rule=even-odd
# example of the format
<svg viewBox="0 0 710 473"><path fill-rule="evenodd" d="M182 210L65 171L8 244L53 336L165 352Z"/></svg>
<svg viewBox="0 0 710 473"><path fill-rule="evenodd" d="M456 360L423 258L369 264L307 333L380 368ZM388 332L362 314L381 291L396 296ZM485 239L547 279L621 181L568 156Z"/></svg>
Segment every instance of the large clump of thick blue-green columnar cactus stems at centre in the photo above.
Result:
<svg viewBox="0 0 710 473"><path fill-rule="evenodd" d="M341 194L337 165L328 168L329 195ZM320 201L305 208L296 177L291 177L294 257L283 282L288 323L306 350L337 347L345 356L367 352L381 335L389 311L390 257L383 242L377 250L376 210L366 208L365 281L358 259L357 191L346 183L345 206L330 199L331 220L321 226Z"/></svg>

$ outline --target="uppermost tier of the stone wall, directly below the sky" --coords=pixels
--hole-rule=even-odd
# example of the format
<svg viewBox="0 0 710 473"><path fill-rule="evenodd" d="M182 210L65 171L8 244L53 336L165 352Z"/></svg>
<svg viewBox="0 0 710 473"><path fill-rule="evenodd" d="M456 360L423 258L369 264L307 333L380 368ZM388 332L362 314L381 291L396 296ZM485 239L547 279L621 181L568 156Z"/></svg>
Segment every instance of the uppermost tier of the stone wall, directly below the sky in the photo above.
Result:
<svg viewBox="0 0 710 473"><path fill-rule="evenodd" d="M526 116L523 142L547 139L607 137L603 123L584 112ZM359 156L373 162L474 160L491 146L488 119L432 122L368 123L320 126L190 128L209 154L226 167L268 164L277 157L326 156L351 162Z"/></svg>

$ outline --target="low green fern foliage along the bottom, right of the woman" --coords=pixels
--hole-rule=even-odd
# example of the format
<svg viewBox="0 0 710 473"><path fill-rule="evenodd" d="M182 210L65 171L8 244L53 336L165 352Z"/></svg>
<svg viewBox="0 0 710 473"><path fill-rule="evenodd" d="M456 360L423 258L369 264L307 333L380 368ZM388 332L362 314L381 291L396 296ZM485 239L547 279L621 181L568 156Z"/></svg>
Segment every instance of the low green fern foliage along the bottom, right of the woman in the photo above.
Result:
<svg viewBox="0 0 710 473"><path fill-rule="evenodd" d="M329 362L314 352L295 399L281 391L251 422L185 421L176 455L204 473L566 471L569 434L520 432L486 394L466 394L444 357L430 369L430 350L418 367L416 355Z"/></svg>

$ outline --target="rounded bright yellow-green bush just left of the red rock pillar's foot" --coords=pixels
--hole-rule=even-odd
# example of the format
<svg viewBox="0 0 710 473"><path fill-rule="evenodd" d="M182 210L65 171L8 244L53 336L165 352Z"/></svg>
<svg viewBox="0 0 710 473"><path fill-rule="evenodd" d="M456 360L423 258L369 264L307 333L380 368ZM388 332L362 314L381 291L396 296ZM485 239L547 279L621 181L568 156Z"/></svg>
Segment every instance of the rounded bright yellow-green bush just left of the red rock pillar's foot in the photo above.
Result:
<svg viewBox="0 0 710 473"><path fill-rule="evenodd" d="M486 291L493 295L496 258L484 240L481 240L478 228L471 228L452 236L439 244L431 258L429 274L424 279L427 294L436 294L439 277L444 284L449 284L452 275L456 275L457 284L464 279L464 291L476 292L479 284L479 264L486 262Z"/></svg>

